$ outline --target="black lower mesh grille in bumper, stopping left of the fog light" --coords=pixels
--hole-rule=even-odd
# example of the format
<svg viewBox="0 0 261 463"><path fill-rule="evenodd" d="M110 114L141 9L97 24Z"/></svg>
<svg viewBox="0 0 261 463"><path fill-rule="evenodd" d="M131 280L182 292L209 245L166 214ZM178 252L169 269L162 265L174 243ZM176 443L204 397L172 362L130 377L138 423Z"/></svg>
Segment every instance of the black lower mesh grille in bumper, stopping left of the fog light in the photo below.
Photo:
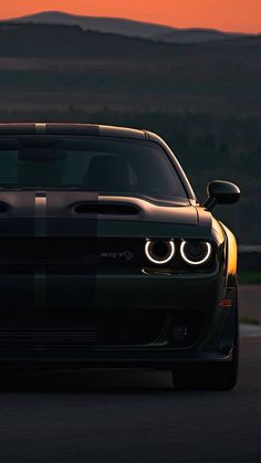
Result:
<svg viewBox="0 0 261 463"><path fill-rule="evenodd" d="M160 334L163 314L100 315L83 320L0 323L0 352L10 350L84 350L92 346L147 345Z"/></svg>

